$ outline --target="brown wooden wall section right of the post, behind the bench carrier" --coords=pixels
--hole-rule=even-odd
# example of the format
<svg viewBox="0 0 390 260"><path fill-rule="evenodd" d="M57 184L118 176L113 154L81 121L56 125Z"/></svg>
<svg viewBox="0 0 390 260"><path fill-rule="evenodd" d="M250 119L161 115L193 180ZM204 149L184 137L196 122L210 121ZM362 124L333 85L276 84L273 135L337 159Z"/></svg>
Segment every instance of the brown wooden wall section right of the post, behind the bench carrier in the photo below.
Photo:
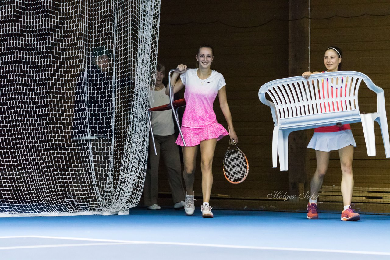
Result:
<svg viewBox="0 0 390 260"><path fill-rule="evenodd" d="M311 1L312 17L325 18L312 20L311 26L311 67L323 70L324 50L335 45L343 51L342 69L360 71L367 74L376 85L385 90L386 113L390 115L390 1ZM373 15L367 15L373 14ZM375 16L383 15L384 16ZM360 16L361 15L361 16ZM353 16L352 18L347 18ZM355 17L358 16L358 17ZM376 112L376 95L362 85L359 90L360 111ZM389 120L388 116L388 120ZM353 173L355 187L362 190L390 188L390 160L385 158L383 141L378 124L375 124L376 156L368 157L360 123L351 125L357 147L354 153ZM314 151L310 151L310 176L316 170ZM328 173L323 185L340 186L342 173L339 155L331 153ZM359 191L355 191L359 192ZM321 197L320 197L321 200ZM353 198L354 200L354 198ZM388 201L385 201L388 203ZM373 204L372 204L373 205ZM364 211L375 212L371 204L365 203ZM386 212L390 209L386 206Z"/></svg>

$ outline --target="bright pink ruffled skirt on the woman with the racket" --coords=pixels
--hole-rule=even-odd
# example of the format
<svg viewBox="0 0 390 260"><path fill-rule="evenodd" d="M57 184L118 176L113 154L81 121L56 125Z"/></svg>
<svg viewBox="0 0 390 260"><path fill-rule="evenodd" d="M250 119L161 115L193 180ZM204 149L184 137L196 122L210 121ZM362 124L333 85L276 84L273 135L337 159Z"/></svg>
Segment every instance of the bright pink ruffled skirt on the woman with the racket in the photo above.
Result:
<svg viewBox="0 0 390 260"><path fill-rule="evenodd" d="M226 129L219 123L208 125L204 128L192 128L192 127L181 127L184 140L187 146L199 145L201 141L210 140L217 138L221 140L223 136L229 135ZM177 136L176 143L180 146L184 146L181 136Z"/></svg>

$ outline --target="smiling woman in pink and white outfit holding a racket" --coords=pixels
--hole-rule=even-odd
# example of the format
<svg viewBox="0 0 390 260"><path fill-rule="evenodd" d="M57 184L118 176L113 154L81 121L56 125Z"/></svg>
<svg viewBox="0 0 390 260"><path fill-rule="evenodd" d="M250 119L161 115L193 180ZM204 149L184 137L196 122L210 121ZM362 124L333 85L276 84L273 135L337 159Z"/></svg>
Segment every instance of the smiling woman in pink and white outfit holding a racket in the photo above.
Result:
<svg viewBox="0 0 390 260"><path fill-rule="evenodd" d="M176 143L182 146L184 159L184 183L186 186L186 201L184 210L192 215L195 210L193 183L195 180L195 165L198 147L200 147L202 170L203 205L201 207L203 218L213 218L209 205L211 187L213 186L213 157L217 140L229 134L230 140L238 142L234 131L232 116L226 99L226 83L222 74L211 69L213 62L213 48L207 44L199 47L195 56L198 69L187 69L180 64L179 69L171 76L174 93L185 86L184 98L186 108L184 111L181 131L186 146L179 135ZM180 76L179 76L180 75ZM166 94L169 94L167 88ZM216 120L213 103L218 95L220 108L225 116L229 132Z"/></svg>

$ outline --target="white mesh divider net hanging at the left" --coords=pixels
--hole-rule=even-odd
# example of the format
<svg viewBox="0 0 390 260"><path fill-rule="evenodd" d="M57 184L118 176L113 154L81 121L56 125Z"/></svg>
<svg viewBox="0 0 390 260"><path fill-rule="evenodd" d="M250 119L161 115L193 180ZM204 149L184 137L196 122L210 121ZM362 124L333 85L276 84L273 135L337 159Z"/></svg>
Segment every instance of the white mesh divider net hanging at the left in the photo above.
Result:
<svg viewBox="0 0 390 260"><path fill-rule="evenodd" d="M144 184L160 0L0 5L0 216L126 214Z"/></svg>

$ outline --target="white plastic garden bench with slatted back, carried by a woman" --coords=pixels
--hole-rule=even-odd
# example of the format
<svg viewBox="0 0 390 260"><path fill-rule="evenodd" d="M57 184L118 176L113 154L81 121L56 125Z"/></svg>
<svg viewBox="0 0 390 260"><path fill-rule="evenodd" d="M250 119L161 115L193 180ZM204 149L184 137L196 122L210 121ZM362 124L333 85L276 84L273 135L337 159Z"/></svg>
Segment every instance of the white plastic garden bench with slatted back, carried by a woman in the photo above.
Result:
<svg viewBox="0 0 390 260"><path fill-rule="evenodd" d="M361 114L358 89L362 82L376 93L377 112ZM324 83L324 84L323 84ZM324 90L323 90L324 85ZM329 85L327 92L327 85ZM268 96L268 99L266 98ZM362 122L368 156L375 156L374 121L378 122L386 158L390 157L383 89L365 74L356 71L337 71L269 81L261 86L259 99L271 107L273 123L272 164L281 171L288 170L288 136L291 132L320 126ZM269 100L271 99L271 100Z"/></svg>

